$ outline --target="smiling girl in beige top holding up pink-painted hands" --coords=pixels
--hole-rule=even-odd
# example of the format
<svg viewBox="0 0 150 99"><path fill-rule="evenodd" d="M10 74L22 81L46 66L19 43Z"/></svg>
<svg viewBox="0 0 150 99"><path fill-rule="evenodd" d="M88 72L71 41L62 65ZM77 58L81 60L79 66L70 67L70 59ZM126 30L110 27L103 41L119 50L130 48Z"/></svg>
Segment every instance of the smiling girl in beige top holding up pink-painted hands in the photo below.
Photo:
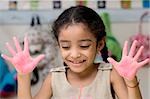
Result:
<svg viewBox="0 0 150 99"><path fill-rule="evenodd" d="M104 24L95 11L84 6L66 9L52 29L67 66L52 69L34 99L113 99L112 91L119 99L142 98L136 72L149 59L137 61L143 49L139 48L135 54L137 41L129 53L125 42L120 62L108 58ZM27 36L24 42L22 51L14 38L17 52L7 43L13 57L2 57L18 72L18 99L32 99L30 73L44 55L31 58ZM100 55L103 61L98 59ZM107 63L107 58L113 66Z"/></svg>

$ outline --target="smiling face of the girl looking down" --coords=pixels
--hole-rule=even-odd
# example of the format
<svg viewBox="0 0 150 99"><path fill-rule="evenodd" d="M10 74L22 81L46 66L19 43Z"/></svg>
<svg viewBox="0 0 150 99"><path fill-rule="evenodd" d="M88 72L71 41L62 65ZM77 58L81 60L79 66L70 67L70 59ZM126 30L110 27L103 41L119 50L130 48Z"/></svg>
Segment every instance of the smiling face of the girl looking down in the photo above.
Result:
<svg viewBox="0 0 150 99"><path fill-rule="evenodd" d="M63 27L58 42L63 60L72 71L80 73L93 66L96 38L82 23Z"/></svg>

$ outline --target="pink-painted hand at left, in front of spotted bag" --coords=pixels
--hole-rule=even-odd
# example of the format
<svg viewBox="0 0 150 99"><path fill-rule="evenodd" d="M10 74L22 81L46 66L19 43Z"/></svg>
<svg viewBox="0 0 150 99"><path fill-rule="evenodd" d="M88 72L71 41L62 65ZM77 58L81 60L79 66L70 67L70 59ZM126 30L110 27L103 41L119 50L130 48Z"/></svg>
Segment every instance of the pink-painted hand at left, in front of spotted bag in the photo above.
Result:
<svg viewBox="0 0 150 99"><path fill-rule="evenodd" d="M17 52L9 45L9 43L6 43L6 47L13 57L8 57L3 54L2 57L11 62L19 74L28 74L32 72L39 61L44 58L44 55L39 55L36 58L32 58L30 56L27 36L24 38L23 51L16 37L13 38L13 41L15 43Z"/></svg>

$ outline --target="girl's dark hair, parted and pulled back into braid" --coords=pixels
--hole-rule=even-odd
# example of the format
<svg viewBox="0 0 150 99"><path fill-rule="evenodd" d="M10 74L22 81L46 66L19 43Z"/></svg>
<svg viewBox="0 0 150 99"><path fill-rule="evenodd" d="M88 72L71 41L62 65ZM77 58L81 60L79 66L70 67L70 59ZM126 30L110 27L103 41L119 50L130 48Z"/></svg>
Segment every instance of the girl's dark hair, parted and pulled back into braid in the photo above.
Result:
<svg viewBox="0 0 150 99"><path fill-rule="evenodd" d="M100 16L91 8L86 6L73 6L62 12L52 25L52 32L58 40L61 28L74 23L83 23L97 38L97 43L106 36L105 26ZM106 43L101 50L103 60L107 62L108 51Z"/></svg>

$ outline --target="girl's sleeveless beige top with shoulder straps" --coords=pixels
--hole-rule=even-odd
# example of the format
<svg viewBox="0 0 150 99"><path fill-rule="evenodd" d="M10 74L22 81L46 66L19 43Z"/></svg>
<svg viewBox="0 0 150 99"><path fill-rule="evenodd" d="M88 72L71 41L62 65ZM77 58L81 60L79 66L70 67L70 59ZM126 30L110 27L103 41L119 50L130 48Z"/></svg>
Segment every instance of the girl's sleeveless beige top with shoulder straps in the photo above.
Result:
<svg viewBox="0 0 150 99"><path fill-rule="evenodd" d="M110 83L112 65L109 63L100 63L95 79L83 88L75 88L68 82L66 68L58 67L51 70L51 99L113 99Z"/></svg>

